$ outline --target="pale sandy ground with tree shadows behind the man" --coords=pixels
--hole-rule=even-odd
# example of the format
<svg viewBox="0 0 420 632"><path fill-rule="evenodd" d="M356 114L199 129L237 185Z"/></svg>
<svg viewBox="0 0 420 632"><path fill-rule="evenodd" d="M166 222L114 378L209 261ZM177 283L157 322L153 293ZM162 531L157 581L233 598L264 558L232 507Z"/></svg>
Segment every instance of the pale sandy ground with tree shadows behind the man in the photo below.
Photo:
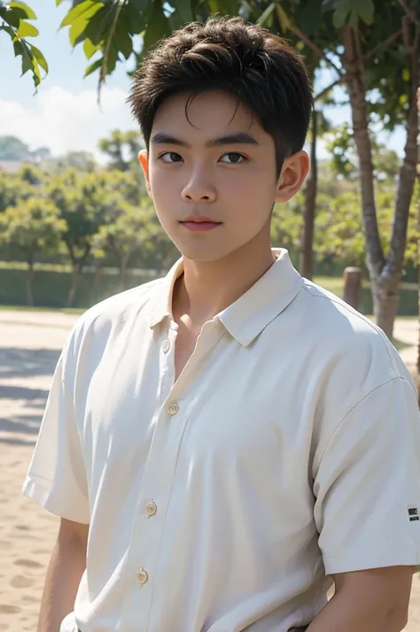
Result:
<svg viewBox="0 0 420 632"><path fill-rule="evenodd" d="M0 312L0 632L35 631L58 519L21 496L51 377L75 317ZM399 320L396 337L416 344L416 322ZM408 365L416 347L401 351ZM416 577L408 632L420 632Z"/></svg>

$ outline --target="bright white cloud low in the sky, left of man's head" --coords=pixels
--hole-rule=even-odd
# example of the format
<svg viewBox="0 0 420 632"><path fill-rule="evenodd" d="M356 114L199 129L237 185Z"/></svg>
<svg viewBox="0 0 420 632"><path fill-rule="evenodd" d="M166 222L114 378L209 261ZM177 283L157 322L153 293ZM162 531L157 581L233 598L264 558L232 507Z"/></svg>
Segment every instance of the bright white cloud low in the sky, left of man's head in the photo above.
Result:
<svg viewBox="0 0 420 632"><path fill-rule="evenodd" d="M115 128L136 128L126 98L125 90L105 86L99 107L93 89L72 94L53 86L40 90L30 108L0 99L0 135L18 136L31 150L49 147L54 155L87 150L104 160L97 151L99 138Z"/></svg>

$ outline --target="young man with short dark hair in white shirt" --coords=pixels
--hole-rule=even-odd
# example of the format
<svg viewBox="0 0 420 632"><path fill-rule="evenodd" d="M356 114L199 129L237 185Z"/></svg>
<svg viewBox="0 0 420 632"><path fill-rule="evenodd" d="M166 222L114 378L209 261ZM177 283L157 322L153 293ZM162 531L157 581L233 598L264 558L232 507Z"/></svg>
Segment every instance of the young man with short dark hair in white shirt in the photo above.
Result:
<svg viewBox="0 0 420 632"><path fill-rule="evenodd" d="M183 257L86 312L58 361L24 487L61 518L39 631L399 632L420 563L413 383L270 248L308 169L301 60L212 19L161 42L129 100Z"/></svg>

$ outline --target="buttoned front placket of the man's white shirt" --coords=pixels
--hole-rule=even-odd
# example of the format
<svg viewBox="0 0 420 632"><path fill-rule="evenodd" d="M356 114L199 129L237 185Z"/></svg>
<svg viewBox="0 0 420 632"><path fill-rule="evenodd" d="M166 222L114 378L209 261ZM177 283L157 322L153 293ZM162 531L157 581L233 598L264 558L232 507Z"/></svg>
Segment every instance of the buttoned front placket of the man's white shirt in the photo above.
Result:
<svg viewBox="0 0 420 632"><path fill-rule="evenodd" d="M159 405L128 549L128 590L119 627L124 630L149 630L152 592L159 589L153 586L153 574L167 506L171 500L177 456L188 421L188 387L200 373L201 360L213 351L223 334L223 326L219 320L206 323L198 336L191 358L178 381L174 383L177 329L177 325L171 321L167 335L160 343Z"/></svg>

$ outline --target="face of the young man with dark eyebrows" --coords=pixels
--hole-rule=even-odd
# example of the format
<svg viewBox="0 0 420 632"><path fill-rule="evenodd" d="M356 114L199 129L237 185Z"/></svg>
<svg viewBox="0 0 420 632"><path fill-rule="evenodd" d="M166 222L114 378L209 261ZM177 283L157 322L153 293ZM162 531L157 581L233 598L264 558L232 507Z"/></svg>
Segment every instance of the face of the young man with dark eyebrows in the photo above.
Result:
<svg viewBox="0 0 420 632"><path fill-rule="evenodd" d="M188 118L187 101L172 96L159 107L140 157L167 235L197 261L227 257L261 235L268 244L278 199L273 139L229 94L196 96Z"/></svg>

